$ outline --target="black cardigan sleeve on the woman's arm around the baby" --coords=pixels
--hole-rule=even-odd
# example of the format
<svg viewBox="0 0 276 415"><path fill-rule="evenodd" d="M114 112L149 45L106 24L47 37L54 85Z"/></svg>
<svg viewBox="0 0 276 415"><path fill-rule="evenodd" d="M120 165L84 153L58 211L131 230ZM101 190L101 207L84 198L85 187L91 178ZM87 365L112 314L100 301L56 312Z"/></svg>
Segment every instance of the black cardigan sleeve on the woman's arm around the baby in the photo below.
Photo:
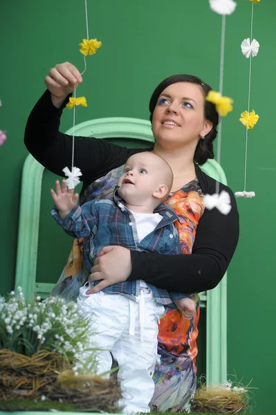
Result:
<svg viewBox="0 0 276 415"><path fill-rule="evenodd" d="M196 229L192 255L157 255L131 251L129 279L185 293L200 293L217 286L226 273L239 238L239 214L230 192L232 210L228 215L217 209L205 210ZM169 271L170 270L170 271Z"/></svg>

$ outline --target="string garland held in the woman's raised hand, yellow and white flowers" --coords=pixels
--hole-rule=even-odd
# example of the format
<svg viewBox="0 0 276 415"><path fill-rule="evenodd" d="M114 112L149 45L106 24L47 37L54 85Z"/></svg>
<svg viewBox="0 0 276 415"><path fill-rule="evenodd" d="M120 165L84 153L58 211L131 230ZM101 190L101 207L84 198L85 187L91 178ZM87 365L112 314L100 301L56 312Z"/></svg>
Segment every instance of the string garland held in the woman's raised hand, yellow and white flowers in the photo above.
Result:
<svg viewBox="0 0 276 415"><path fill-rule="evenodd" d="M86 17L86 37L87 39L82 39L82 43L79 44L80 46L80 53L84 55L84 71L80 74L83 75L86 71L86 56L88 55L95 55L98 48L102 46L102 42L99 42L97 39L90 39L89 40L89 25L88 25L88 10L87 10L87 0L84 0L84 8L85 8L85 17ZM87 102L85 97L76 98L75 90L73 97L69 98L68 104L66 107L68 109L73 109L73 133L72 133L72 165L71 171L68 167L64 167L62 172L64 172L66 178L66 185L68 189L75 189L76 185L80 183L80 176L82 176L82 172L78 167L74 166L74 149L75 149L75 107L87 107Z"/></svg>

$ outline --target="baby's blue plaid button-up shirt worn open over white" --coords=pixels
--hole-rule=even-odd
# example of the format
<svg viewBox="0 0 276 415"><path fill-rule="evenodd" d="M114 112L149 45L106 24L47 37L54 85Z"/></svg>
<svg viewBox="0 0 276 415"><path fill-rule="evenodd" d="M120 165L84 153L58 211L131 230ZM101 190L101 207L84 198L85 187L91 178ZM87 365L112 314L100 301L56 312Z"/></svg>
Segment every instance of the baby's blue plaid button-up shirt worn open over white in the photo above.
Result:
<svg viewBox="0 0 276 415"><path fill-rule="evenodd" d="M98 253L104 246L120 245L129 250L158 252L160 254L181 254L181 245L174 221L178 216L172 208L160 205L154 213L163 216L156 228L147 234L140 242L136 229L134 215L124 205L117 194L118 187L113 194L113 199L96 199L76 206L65 219L61 219L57 207L54 206L52 215L55 221L64 228L66 233L74 238L87 238L84 243L83 257L86 268L90 271ZM141 275L142 279L142 275ZM100 281L90 283L90 286ZM181 293L167 291L147 284L154 293L158 304L176 308L174 299L189 297ZM118 293L136 299L140 295L140 280L126 281L113 284L102 291L105 293Z"/></svg>

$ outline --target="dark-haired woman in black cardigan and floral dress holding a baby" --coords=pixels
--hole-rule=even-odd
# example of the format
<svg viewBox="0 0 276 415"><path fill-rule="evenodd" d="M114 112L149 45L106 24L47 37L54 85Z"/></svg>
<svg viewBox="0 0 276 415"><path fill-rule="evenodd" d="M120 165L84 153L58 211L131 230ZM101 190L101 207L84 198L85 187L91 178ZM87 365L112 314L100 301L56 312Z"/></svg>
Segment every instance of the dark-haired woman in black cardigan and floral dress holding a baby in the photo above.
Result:
<svg viewBox="0 0 276 415"><path fill-rule="evenodd" d="M68 62L50 70L45 79L47 91L37 102L26 125L25 144L39 163L55 174L71 165L72 138L58 131L62 109L75 86L82 82L77 68ZM96 259L91 275L82 266L82 241L73 250L54 293L67 299L89 277L102 282L91 290L125 281L144 279L167 290L199 293L219 284L226 273L239 237L239 214L232 191L232 209L223 215L217 209L205 210L203 194L214 194L214 179L199 165L214 158L212 142L217 136L218 114L214 104L205 101L210 86L191 75L176 75L161 82L149 102L155 144L149 151L163 157L174 172L169 204L178 216L178 232L183 254L158 255L109 246ZM39 137L39 139L37 139ZM127 149L107 140L78 137L75 140L75 166L82 171L80 203L93 198L107 199L113 193L125 161L145 149ZM199 304L199 297L194 296ZM151 406L159 411L188 411L196 389L195 357L199 306L189 322L169 311L160 322L156 367L156 391Z"/></svg>

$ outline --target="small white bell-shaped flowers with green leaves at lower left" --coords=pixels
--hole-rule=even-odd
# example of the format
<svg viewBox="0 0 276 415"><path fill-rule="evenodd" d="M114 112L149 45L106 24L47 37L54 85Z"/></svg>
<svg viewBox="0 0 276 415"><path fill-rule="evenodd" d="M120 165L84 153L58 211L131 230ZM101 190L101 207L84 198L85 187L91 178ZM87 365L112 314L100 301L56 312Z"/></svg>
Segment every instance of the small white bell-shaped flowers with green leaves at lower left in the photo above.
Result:
<svg viewBox="0 0 276 415"><path fill-rule="evenodd" d="M29 357L40 350L60 353L73 364L77 376L86 373L87 367L90 372L96 369L89 327L77 304L61 297L27 302L20 287L8 298L0 296L0 350ZM90 352L89 360L84 359L84 351Z"/></svg>

